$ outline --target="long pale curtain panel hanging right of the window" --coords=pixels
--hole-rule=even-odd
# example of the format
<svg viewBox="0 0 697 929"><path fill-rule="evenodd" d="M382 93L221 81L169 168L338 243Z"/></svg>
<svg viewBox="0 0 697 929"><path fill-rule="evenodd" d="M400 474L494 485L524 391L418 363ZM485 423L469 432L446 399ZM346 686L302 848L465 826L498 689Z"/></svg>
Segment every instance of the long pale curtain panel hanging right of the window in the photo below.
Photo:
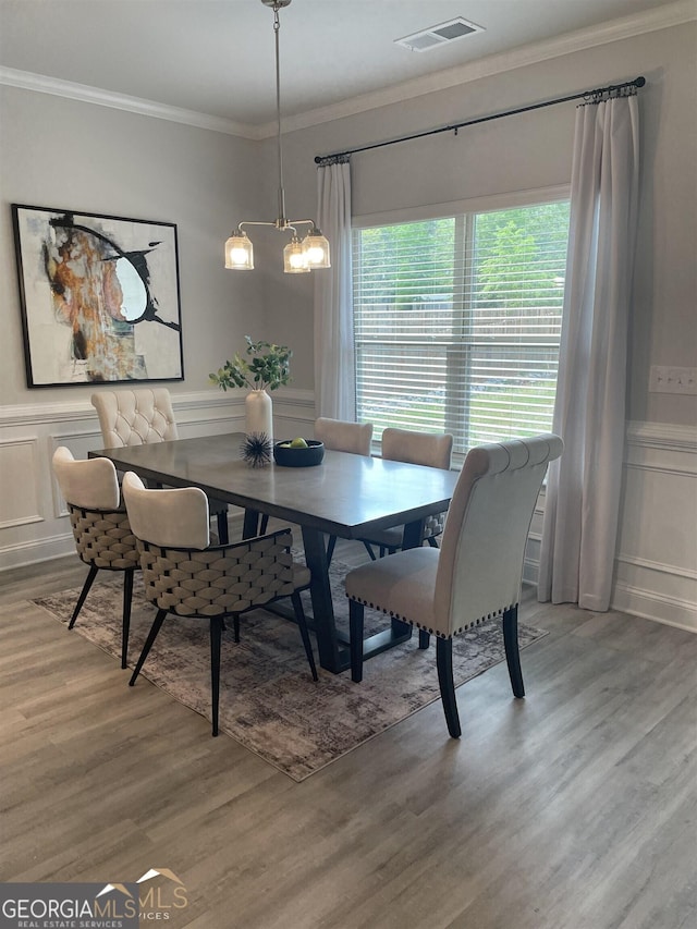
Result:
<svg viewBox="0 0 697 929"><path fill-rule="evenodd" d="M636 96L576 113L571 227L538 597L610 606L625 433L639 173Z"/></svg>

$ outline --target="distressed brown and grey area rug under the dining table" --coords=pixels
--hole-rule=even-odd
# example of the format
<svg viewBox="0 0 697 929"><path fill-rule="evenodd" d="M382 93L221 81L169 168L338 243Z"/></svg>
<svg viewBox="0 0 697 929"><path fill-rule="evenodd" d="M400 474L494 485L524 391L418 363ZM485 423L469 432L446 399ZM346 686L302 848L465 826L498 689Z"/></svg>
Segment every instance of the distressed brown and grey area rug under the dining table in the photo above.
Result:
<svg viewBox="0 0 697 929"><path fill-rule="evenodd" d="M348 625L348 601L343 577L348 570L337 561L330 569L337 625L344 629ZM121 575L96 584L73 628L73 633L114 659L121 650L122 590ZM80 589L64 590L33 602L68 624L78 594ZM309 600L306 607L309 613ZM152 619L154 608L145 600L136 575L129 644L131 667L140 653ZM383 615L366 610L366 634L384 628L388 622ZM541 629L519 624L522 648L542 635L546 633ZM431 639L430 648L420 650L418 635L370 659L360 684L351 681L350 672L332 674L321 669L315 683L295 624L265 610L242 616L241 639L235 644L232 631L223 633L220 731L294 781L305 780L440 699L435 643ZM463 684L502 660L500 622L482 623L456 636L455 684ZM210 720L209 662L208 624L168 616L140 675ZM444 719L442 724L445 732Z"/></svg>

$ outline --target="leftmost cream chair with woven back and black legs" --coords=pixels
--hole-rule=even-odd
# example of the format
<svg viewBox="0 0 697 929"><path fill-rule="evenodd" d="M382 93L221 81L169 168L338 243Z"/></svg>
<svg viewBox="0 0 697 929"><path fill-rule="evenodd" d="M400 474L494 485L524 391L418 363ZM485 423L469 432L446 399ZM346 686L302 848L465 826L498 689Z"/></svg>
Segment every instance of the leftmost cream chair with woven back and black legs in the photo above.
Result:
<svg viewBox="0 0 697 929"><path fill-rule="evenodd" d="M140 569L140 559L125 508L121 503L117 469L109 459L75 461L70 449L63 445L53 453L52 464L70 511L77 554L89 566L68 628L72 629L75 625L98 572L101 569L122 571L121 667L125 668L133 575Z"/></svg>

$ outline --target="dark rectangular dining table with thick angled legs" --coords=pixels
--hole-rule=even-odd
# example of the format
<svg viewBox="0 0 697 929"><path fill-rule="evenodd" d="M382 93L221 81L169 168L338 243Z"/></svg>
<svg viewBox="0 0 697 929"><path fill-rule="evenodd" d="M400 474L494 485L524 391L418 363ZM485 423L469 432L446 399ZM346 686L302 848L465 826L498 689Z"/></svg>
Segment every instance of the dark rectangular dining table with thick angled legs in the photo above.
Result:
<svg viewBox="0 0 697 929"><path fill-rule="evenodd" d="M380 457L325 450L320 464L285 467L271 461L250 466L243 457L242 432L175 439L90 451L120 472L167 487L199 487L209 497L244 510L243 538L258 535L268 515L301 527L310 571L311 616L319 662L333 673L350 667L347 631L337 627L329 578L327 537L363 539L378 529L404 526L403 547L421 543L425 519L448 510L457 473ZM389 555L388 555L389 557ZM366 659L412 635L392 619L364 641Z"/></svg>

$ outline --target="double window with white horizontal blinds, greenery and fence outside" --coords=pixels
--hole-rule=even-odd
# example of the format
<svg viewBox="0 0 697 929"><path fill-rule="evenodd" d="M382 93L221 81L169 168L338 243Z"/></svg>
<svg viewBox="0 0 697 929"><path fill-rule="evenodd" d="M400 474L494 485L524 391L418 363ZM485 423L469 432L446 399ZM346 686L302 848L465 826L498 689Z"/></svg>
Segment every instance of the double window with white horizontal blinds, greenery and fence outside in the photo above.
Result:
<svg viewBox="0 0 697 929"><path fill-rule="evenodd" d="M551 429L568 201L353 231L356 412L455 452Z"/></svg>

